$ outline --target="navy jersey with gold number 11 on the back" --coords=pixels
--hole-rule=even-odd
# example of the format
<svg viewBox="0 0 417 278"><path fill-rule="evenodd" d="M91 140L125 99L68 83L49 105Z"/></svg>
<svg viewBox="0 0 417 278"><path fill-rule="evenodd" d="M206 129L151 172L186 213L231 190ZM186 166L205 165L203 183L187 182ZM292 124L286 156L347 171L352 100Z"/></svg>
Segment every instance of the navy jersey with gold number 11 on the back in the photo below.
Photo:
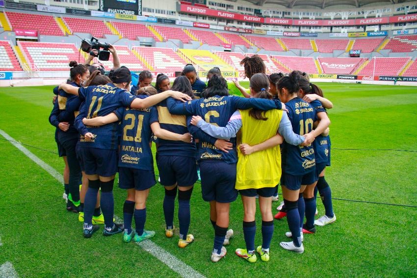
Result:
<svg viewBox="0 0 417 278"><path fill-rule="evenodd" d="M95 118L106 116L119 107L128 107L135 99L124 89L117 88L112 83L99 86L89 86L79 88L78 96L85 100L81 105L80 113L76 118L75 126L84 135L82 118ZM97 148L106 150L116 150L118 146L117 131L119 123L111 123L104 126L85 126L87 130L95 135L91 141L80 138L80 146L83 148Z"/></svg>

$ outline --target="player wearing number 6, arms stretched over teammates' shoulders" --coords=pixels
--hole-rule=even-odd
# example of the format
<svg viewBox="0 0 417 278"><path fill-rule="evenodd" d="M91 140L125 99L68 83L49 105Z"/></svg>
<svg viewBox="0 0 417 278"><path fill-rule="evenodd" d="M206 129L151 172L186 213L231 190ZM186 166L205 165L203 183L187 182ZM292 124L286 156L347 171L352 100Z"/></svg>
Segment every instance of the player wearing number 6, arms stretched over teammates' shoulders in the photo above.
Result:
<svg viewBox="0 0 417 278"><path fill-rule="evenodd" d="M281 109L280 101L245 99L229 96L224 78L214 75L209 80L208 88L202 99L177 103L168 99L171 114L198 115L206 122L226 126L236 109L258 108L262 110ZM189 125L191 134L193 129ZM197 128L198 129L198 128ZM203 200L210 203L210 221L215 231L211 261L217 262L225 256L224 244L229 227L230 203L237 198L236 181L236 142L231 140L233 149L223 152L215 148L216 138L199 138L197 160L200 164Z"/></svg>

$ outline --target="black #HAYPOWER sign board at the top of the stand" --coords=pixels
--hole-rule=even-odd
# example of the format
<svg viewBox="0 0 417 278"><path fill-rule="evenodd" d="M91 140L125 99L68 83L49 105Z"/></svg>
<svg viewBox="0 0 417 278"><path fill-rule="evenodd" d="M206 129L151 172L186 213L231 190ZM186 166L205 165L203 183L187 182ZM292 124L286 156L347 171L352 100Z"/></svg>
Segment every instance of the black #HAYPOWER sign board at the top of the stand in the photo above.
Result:
<svg viewBox="0 0 417 278"><path fill-rule="evenodd" d="M100 0L99 11L123 15L142 15L142 0Z"/></svg>

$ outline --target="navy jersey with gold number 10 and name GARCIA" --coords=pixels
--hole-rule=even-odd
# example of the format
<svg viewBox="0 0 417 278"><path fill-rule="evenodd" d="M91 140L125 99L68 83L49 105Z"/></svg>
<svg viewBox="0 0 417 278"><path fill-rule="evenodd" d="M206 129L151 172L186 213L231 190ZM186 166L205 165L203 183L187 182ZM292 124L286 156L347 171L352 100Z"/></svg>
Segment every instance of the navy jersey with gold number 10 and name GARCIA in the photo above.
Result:
<svg viewBox="0 0 417 278"><path fill-rule="evenodd" d="M294 98L286 104L288 118L294 133L303 135L313 130L316 113L313 106L300 98ZM286 174L301 176L313 170L315 165L313 146L302 147L283 143L282 167Z"/></svg>

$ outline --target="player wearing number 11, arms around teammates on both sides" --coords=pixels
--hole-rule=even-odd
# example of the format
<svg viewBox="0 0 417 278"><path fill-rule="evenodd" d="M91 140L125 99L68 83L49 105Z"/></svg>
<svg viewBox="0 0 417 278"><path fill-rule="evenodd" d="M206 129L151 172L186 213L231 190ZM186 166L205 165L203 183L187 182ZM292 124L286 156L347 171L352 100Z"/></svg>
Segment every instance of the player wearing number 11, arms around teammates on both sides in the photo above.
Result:
<svg viewBox="0 0 417 278"><path fill-rule="evenodd" d="M180 92L166 91L155 96L139 99L130 93L131 75L127 68L119 68L111 75L113 83L106 85L90 86L87 88L74 87L61 84L66 92L76 94L85 101L76 118L75 125L82 138L80 139L81 156L88 177L88 190L84 203L84 237L91 237L98 230L98 226L92 225L92 215L97 200L97 193L101 189L101 208L104 214L104 235L120 233L123 225L116 225L113 221L114 200L113 182L117 172L117 123L111 123L100 127L82 124L83 118L106 116L119 107L147 108L169 96L191 100Z"/></svg>

